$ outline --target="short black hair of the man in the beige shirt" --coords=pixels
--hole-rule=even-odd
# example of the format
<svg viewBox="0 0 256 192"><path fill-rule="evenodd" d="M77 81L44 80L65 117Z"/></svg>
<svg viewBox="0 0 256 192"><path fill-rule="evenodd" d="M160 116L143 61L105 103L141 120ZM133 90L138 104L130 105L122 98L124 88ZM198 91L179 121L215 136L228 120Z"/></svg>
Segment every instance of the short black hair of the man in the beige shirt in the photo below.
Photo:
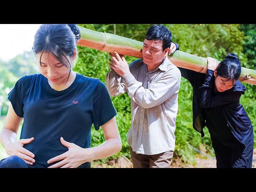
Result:
<svg viewBox="0 0 256 192"><path fill-rule="evenodd" d="M159 40L163 42L163 51L172 44L172 33L163 25L153 25L148 29L146 40Z"/></svg>

